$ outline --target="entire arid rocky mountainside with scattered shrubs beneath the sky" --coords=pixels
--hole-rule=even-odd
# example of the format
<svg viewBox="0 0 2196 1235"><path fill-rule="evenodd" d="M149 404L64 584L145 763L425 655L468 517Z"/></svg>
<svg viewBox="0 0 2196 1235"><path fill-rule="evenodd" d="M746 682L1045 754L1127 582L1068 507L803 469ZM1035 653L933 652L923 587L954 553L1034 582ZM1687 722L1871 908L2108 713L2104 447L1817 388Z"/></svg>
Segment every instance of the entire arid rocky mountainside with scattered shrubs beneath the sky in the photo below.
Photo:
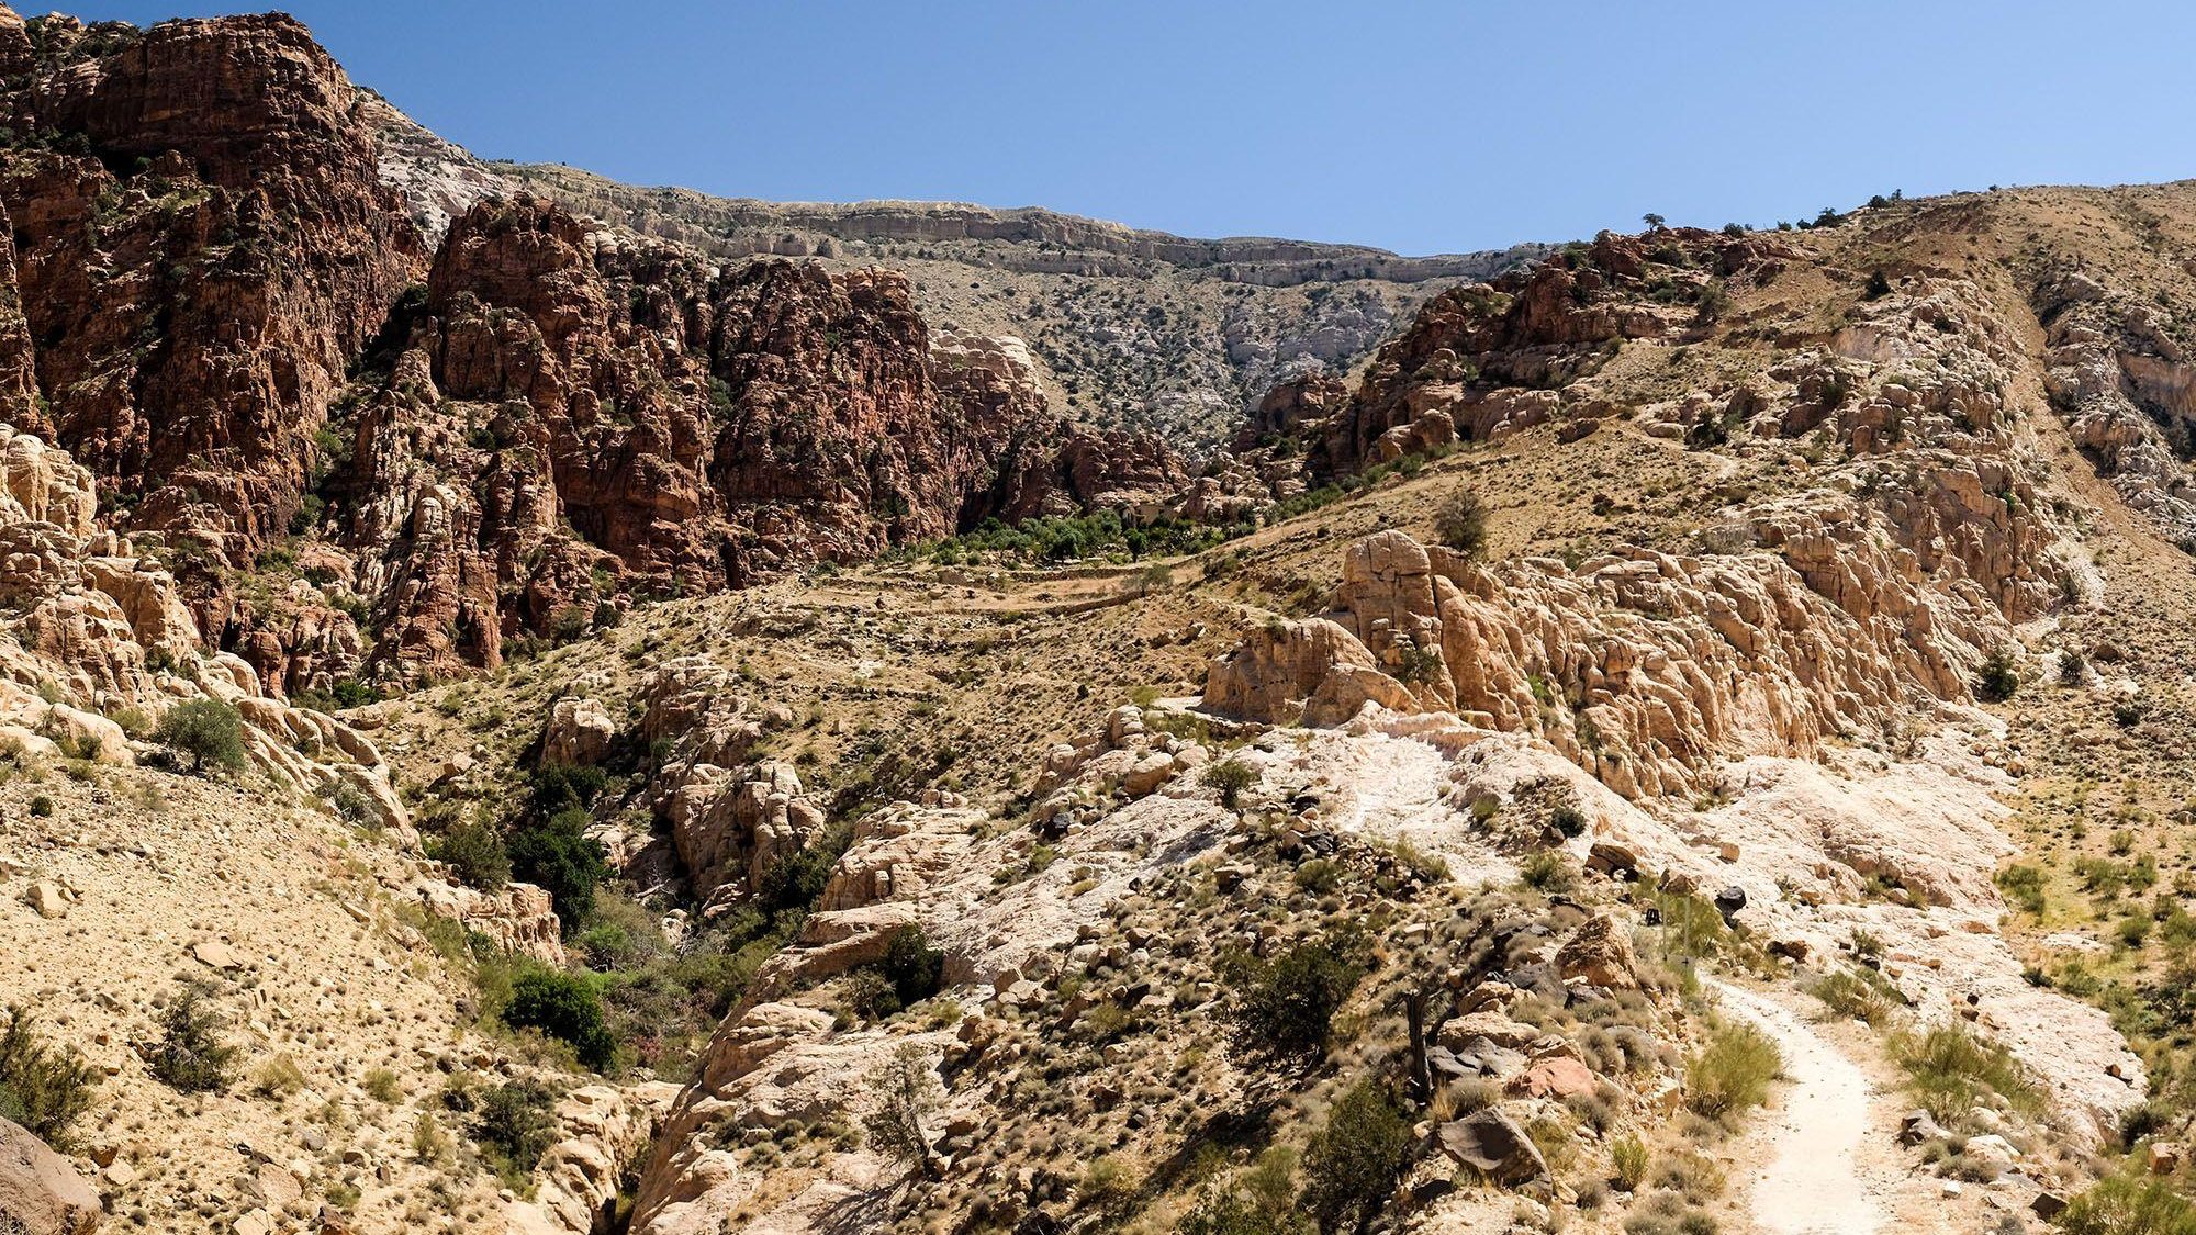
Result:
<svg viewBox="0 0 2196 1235"><path fill-rule="evenodd" d="M2196 1224L2196 182L1471 268L279 15L0 108L0 1228Z"/></svg>

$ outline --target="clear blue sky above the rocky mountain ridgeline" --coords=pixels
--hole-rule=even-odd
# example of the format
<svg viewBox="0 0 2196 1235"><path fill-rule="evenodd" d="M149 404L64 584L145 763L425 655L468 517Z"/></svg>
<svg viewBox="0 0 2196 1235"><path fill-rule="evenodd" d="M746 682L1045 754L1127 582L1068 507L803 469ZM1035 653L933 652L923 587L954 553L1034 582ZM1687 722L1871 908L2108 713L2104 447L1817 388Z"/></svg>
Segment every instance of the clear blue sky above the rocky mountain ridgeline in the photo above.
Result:
<svg viewBox="0 0 2196 1235"><path fill-rule="evenodd" d="M1772 224L1891 189L2196 176L2185 0L288 9L481 156L725 196L1043 204L1438 253L1643 211Z"/></svg>

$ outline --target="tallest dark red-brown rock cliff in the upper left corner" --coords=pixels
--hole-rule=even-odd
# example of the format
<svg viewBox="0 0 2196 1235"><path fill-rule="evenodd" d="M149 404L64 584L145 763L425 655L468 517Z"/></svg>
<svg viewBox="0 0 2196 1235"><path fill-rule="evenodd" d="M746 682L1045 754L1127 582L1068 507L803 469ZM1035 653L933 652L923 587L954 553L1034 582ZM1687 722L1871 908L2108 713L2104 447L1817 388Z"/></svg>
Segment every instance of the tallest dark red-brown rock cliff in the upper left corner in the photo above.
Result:
<svg viewBox="0 0 2196 1235"><path fill-rule="evenodd" d="M358 90L290 18L40 18L35 48L0 110L53 141L0 158L0 207L51 431L130 527L246 565L299 512L419 235L378 182ZM20 374L9 319L0 363ZM202 598L200 618L226 613Z"/></svg>

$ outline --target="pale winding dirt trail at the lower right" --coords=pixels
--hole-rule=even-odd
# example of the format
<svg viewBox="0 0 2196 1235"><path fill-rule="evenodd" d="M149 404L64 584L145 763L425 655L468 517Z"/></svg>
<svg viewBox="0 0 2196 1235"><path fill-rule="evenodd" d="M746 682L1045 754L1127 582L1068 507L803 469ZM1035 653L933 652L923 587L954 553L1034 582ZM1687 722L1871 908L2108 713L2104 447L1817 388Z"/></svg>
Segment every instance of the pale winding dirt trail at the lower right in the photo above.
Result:
<svg viewBox="0 0 2196 1235"><path fill-rule="evenodd" d="M1728 982L1708 982L1724 1011L1768 1033L1783 1050L1792 1086L1755 1134L1770 1162L1755 1176L1752 1211L1777 1235L1873 1235L1884 1204L1860 1176L1873 1086L1799 1013Z"/></svg>

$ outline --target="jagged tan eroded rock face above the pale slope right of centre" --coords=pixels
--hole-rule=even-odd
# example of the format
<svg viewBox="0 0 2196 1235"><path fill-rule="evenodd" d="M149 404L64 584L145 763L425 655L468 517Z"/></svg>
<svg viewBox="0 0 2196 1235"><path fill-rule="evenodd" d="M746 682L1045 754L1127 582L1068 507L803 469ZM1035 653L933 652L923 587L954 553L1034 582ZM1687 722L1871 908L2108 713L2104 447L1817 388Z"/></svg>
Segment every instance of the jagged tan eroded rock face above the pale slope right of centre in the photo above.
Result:
<svg viewBox="0 0 2196 1235"><path fill-rule="evenodd" d="M1983 620L1919 591L1856 615L1761 554L1482 567L1381 532L1348 549L1329 615L1252 631L1214 661L1206 705L1326 725L1368 701L1458 712L1656 795L1711 758L1810 754L1911 697L1965 699Z"/></svg>

